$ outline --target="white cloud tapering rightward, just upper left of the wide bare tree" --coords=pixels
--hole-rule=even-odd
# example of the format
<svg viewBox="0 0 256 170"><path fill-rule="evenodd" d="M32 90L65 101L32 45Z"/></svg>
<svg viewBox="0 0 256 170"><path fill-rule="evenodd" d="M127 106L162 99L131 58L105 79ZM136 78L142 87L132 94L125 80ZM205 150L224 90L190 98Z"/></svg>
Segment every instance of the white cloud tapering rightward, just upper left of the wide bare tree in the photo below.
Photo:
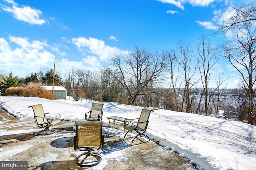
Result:
<svg viewBox="0 0 256 170"><path fill-rule="evenodd" d="M117 47L105 45L104 41L95 38L86 39L84 37L72 38L72 42L79 51L84 54L92 53L99 57L99 61L108 61L114 55L128 54L128 51L122 51Z"/></svg>

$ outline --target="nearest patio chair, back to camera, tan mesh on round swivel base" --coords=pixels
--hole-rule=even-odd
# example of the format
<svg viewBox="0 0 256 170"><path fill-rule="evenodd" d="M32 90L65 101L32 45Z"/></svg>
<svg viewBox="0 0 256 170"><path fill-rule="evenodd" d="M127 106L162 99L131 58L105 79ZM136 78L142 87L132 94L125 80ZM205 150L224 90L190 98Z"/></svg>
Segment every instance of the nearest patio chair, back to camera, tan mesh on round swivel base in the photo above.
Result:
<svg viewBox="0 0 256 170"><path fill-rule="evenodd" d="M102 121L76 121L75 126L74 149L86 151L76 157L76 164L81 167L91 167L99 164L102 159L101 155L92 151L103 148Z"/></svg>

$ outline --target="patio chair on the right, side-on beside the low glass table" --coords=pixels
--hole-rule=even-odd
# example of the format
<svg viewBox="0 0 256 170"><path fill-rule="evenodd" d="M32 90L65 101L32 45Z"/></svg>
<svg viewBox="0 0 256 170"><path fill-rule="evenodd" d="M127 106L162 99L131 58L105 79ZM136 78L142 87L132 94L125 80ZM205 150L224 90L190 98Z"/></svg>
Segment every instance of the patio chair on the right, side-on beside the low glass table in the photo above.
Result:
<svg viewBox="0 0 256 170"><path fill-rule="evenodd" d="M148 140L150 141L150 138L148 137L148 135L146 135L144 133L146 132L147 127L148 127L148 122L149 122L148 118L149 118L149 115L150 115L151 111L153 111L153 110L142 109L142 111L140 113L140 117L136 118L136 119L138 119L138 122L133 122L131 125L129 125L129 122L126 121L126 120L136 120L136 119L126 119L126 120L124 120L124 124L125 124L124 125L124 130L127 130L124 137L127 135L128 132L136 131L138 133L138 135L136 135L136 137L143 135L143 136L147 137ZM136 137L134 137L134 139ZM133 143L134 139L132 140L132 143Z"/></svg>

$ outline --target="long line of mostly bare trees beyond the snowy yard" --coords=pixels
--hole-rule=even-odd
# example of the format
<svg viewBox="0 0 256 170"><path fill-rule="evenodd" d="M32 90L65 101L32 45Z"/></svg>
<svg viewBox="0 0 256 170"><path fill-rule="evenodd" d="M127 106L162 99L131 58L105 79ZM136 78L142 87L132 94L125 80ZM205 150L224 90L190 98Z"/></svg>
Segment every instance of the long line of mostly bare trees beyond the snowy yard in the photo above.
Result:
<svg viewBox="0 0 256 170"><path fill-rule="evenodd" d="M136 46L128 55L113 56L100 72L70 68L62 76L55 74L54 84L64 86L69 96L79 98L218 115L225 102L222 93L226 92L225 88L220 87L227 78L219 73L213 80L212 73L214 65L220 57L224 57L241 79L240 91L230 91L230 94L236 95L231 95L233 100L228 103L233 106L229 107L240 121L255 125L255 3L231 7L230 13L233 15L224 20L217 31L231 35L222 46L214 46L205 35L198 39L196 50L184 41L178 41L174 49L161 52ZM4 78L4 83L8 84L10 76ZM53 70L49 70L32 73L18 82L52 85L52 77ZM211 88L212 82L215 82L215 88ZM4 83L0 83L2 95ZM241 95L237 95L238 91Z"/></svg>

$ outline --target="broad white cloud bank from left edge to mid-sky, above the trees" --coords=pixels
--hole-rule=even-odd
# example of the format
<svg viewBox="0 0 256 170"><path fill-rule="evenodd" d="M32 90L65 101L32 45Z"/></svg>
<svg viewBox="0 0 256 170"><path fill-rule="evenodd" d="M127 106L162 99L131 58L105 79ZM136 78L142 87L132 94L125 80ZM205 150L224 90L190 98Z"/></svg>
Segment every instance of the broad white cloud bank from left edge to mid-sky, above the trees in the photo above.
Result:
<svg viewBox="0 0 256 170"><path fill-rule="evenodd" d="M65 43L70 43L70 40L62 37ZM71 41L76 47L86 54L80 61L69 61L62 59L56 62L58 72L65 72L67 68L89 69L98 71L102 66L101 61L107 61L115 54L128 54L128 51L122 51L116 47L105 45L104 41L84 37L72 39ZM25 77L31 72L53 68L54 59L57 55L67 56L65 51L61 49L70 49L61 43L49 45L46 40L33 41L26 37L10 36L9 39L0 39L0 72L1 74L12 73L16 76ZM54 53L52 53L52 52ZM76 56L74 56L76 57Z"/></svg>

